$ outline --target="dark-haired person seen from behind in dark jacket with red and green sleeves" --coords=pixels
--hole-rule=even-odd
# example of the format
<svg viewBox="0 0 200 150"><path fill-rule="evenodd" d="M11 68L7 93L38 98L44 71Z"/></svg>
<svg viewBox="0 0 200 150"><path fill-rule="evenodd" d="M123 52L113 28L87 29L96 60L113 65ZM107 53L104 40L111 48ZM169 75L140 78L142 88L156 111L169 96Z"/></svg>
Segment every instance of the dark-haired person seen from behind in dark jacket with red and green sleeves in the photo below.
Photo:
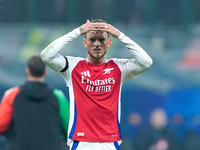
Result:
<svg viewBox="0 0 200 150"><path fill-rule="evenodd" d="M7 90L0 104L4 150L62 150L69 121L68 100L62 91L44 82L47 70L40 56L28 60L26 74L28 81Z"/></svg>

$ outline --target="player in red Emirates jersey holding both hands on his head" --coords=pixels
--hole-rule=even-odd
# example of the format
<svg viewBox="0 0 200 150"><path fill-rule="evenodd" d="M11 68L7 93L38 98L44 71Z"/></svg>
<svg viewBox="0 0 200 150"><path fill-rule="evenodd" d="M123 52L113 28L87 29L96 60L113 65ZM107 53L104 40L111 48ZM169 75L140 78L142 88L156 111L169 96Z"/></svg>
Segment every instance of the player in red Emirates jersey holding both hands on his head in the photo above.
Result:
<svg viewBox="0 0 200 150"><path fill-rule="evenodd" d="M60 50L85 34L87 58L62 56ZM105 59L111 45L109 34L118 38L132 59ZM78 50L77 50L78 53ZM60 72L70 94L68 145L71 150L119 149L121 86L152 65L149 55L111 24L89 21L56 39L42 52L43 61Z"/></svg>

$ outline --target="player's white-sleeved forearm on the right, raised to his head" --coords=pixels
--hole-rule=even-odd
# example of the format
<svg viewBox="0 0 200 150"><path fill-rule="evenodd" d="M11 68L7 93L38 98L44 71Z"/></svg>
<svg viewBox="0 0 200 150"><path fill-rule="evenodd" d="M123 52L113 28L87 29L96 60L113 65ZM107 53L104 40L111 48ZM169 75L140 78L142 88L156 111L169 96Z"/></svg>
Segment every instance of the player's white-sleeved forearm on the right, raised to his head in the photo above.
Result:
<svg viewBox="0 0 200 150"><path fill-rule="evenodd" d="M123 33L120 34L118 39L126 46L142 68L148 69L151 67L153 62L151 57L137 43Z"/></svg>

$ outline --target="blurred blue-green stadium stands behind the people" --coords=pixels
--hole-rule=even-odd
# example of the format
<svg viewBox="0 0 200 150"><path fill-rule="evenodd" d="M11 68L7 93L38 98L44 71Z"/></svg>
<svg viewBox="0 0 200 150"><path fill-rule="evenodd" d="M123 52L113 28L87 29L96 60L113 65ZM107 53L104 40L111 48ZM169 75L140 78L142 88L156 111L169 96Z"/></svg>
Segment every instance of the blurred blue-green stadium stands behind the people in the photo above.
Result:
<svg viewBox="0 0 200 150"><path fill-rule="evenodd" d="M85 23L104 19L141 45L153 58L147 72L122 89L122 149L131 149L136 124L148 124L154 108L164 108L169 125L182 117L184 129L200 136L200 1L199 0L0 0L0 96L26 80L25 62L50 42ZM112 38L107 58L130 58ZM86 57L82 38L62 54ZM47 82L62 89L64 80L52 70ZM181 133L184 136L184 133Z"/></svg>

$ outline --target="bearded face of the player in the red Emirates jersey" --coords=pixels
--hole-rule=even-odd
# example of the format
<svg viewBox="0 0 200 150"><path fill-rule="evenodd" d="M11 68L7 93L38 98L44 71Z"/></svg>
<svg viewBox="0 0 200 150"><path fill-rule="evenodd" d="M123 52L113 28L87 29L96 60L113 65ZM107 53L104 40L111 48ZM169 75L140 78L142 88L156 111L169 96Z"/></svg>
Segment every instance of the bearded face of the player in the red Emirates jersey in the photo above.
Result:
<svg viewBox="0 0 200 150"><path fill-rule="evenodd" d="M91 59L104 60L110 44L111 39L108 38L108 33L101 31L90 31L83 39L83 45L88 49L88 57Z"/></svg>

